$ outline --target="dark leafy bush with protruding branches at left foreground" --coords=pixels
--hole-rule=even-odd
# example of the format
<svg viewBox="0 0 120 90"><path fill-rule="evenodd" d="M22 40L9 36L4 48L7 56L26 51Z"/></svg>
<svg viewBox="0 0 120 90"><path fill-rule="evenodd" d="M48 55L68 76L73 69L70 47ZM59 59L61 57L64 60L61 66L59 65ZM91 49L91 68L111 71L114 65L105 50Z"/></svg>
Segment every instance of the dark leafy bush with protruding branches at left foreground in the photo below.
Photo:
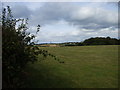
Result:
<svg viewBox="0 0 120 90"><path fill-rule="evenodd" d="M9 6L2 10L2 74L3 88L24 87L24 68L28 62L37 61L38 54L52 56L35 46L36 35L27 30L28 19L15 19ZM40 25L37 26L36 34Z"/></svg>

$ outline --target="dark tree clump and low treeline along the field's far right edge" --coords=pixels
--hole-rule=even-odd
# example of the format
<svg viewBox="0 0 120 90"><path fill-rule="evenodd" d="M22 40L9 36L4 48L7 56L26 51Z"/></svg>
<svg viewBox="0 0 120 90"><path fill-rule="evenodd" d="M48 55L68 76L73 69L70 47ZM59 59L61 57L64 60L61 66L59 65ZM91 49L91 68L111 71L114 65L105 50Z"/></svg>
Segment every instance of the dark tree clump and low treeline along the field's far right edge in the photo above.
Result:
<svg viewBox="0 0 120 90"><path fill-rule="evenodd" d="M119 45L120 39L110 37L95 37L86 39L83 42L68 42L63 44L65 44L65 46Z"/></svg>

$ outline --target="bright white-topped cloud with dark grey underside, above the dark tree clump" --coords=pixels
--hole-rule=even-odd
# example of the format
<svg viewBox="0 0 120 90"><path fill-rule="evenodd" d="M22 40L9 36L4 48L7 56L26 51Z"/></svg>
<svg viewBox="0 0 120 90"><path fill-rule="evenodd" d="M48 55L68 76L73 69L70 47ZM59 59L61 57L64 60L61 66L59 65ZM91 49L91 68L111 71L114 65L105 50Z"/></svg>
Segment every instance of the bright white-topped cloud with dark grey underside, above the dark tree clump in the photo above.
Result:
<svg viewBox="0 0 120 90"><path fill-rule="evenodd" d="M75 18L72 19L74 25L83 26L83 28L107 28L110 26L115 26L117 24L117 13L95 9L95 8L86 8L87 10L84 14L76 13ZM89 14L93 12L93 14ZM81 16L80 16L81 15ZM83 15L83 16L82 16ZM85 16L86 15L86 16Z"/></svg>

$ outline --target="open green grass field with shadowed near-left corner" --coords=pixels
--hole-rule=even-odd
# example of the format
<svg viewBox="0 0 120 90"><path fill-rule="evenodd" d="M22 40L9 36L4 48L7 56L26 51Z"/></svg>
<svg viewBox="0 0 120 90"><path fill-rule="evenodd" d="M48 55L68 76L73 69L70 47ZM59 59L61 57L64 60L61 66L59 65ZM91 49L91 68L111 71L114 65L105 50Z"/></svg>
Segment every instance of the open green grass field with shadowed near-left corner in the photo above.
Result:
<svg viewBox="0 0 120 90"><path fill-rule="evenodd" d="M48 56L28 64L31 88L117 88L118 46L42 47L60 58Z"/></svg>

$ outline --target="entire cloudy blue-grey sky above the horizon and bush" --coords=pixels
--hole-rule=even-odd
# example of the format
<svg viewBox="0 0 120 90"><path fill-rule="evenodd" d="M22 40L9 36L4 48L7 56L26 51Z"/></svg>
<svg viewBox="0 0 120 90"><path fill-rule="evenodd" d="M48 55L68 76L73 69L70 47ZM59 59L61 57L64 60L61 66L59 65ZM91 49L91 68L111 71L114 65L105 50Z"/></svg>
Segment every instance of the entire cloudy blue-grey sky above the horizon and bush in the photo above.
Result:
<svg viewBox="0 0 120 90"><path fill-rule="evenodd" d="M7 5L15 18L29 19L29 32L34 34L41 25L38 43L118 38L117 2L3 2L4 7Z"/></svg>

